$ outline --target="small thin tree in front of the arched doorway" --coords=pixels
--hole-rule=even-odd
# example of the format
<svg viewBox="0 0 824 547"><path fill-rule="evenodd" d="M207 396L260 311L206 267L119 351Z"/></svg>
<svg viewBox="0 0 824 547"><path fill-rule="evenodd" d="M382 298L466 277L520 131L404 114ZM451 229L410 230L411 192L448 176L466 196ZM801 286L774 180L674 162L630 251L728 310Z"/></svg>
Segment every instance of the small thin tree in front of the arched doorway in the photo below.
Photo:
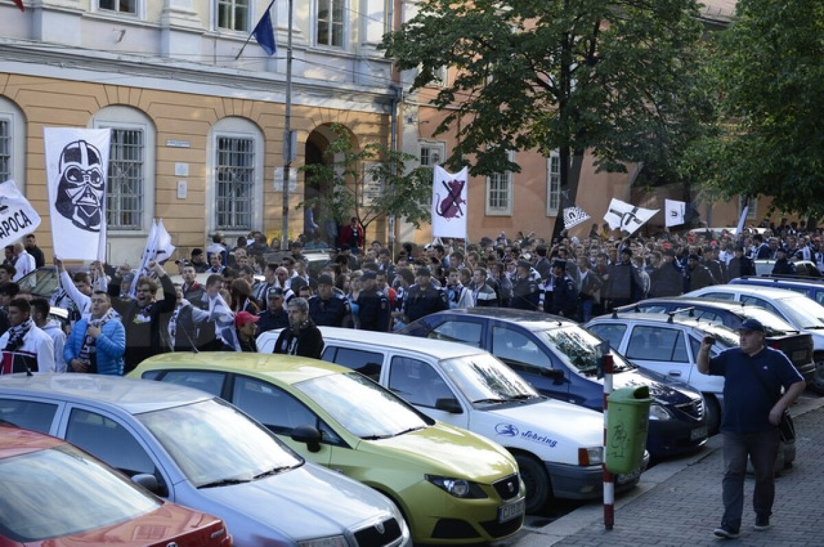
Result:
<svg viewBox="0 0 824 547"><path fill-rule="evenodd" d="M420 227L428 222L432 202L432 169L418 166L407 169L415 158L390 150L380 143L356 148L349 132L332 126L335 139L325 150L325 164L301 167L306 184L321 188L331 181L331 191L307 199L297 208L320 205L321 220L333 218L339 224L357 217L364 228L377 218L395 215Z"/></svg>

